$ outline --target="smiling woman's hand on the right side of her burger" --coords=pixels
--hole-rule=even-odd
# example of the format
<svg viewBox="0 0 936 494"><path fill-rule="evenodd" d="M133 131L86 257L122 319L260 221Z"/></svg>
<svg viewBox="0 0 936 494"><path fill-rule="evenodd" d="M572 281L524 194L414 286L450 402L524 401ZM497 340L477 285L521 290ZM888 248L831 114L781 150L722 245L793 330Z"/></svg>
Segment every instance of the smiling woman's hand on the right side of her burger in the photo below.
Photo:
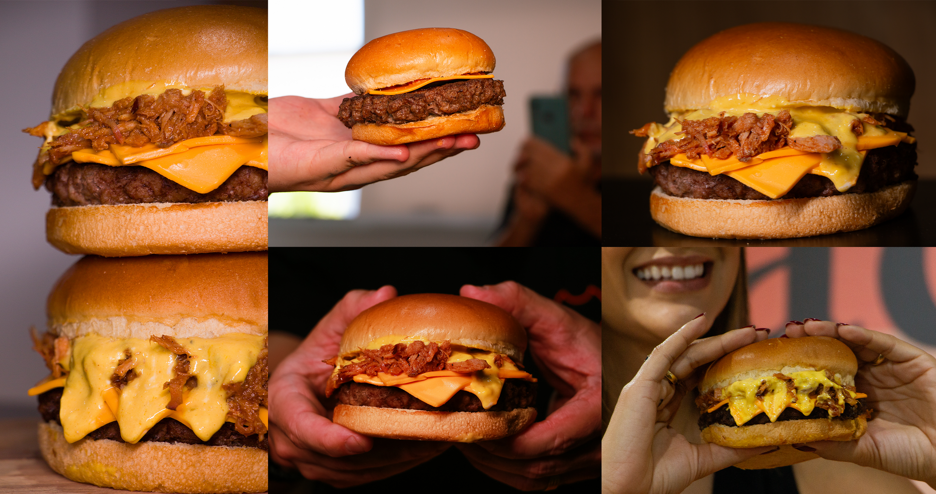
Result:
<svg viewBox="0 0 936 494"><path fill-rule="evenodd" d="M876 410L856 441L810 443L816 454L921 480L936 488L936 358L883 332L809 319L787 324L786 334L831 336L855 352L861 364L856 388ZM885 360L872 365L878 356Z"/></svg>

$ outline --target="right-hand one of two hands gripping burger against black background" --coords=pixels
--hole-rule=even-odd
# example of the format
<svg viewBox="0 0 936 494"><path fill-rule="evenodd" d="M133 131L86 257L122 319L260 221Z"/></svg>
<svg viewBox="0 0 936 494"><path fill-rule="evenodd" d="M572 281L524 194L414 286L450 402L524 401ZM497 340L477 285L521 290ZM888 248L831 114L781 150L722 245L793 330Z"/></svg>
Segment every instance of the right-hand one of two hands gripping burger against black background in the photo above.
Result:
<svg viewBox="0 0 936 494"><path fill-rule="evenodd" d="M575 311L513 281L461 287L461 295L493 303L527 329L530 354L556 389L545 420L514 436L459 445L475 467L523 490L597 477L601 451L601 334Z"/></svg>

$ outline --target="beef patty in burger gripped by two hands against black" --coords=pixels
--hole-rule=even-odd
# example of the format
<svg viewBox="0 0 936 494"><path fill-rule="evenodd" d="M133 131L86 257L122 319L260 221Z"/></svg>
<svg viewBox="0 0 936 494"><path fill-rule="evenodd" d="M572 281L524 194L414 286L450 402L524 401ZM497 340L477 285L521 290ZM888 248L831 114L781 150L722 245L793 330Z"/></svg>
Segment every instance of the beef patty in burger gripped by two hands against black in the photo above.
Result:
<svg viewBox="0 0 936 494"><path fill-rule="evenodd" d="M497 403L485 410L477 396L459 391L442 406L432 406L415 396L392 386L374 386L367 383L344 383L338 388L338 401L358 406L378 408L406 408L431 412L509 412L515 408L528 408L536 403L536 383L522 379L506 379Z"/></svg>

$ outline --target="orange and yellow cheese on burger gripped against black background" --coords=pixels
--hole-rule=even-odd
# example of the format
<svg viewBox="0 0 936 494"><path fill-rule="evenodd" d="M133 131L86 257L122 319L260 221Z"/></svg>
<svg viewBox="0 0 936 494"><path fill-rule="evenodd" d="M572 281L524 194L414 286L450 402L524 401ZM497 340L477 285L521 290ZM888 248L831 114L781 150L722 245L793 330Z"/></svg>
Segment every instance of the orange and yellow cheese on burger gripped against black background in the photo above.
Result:
<svg viewBox="0 0 936 494"><path fill-rule="evenodd" d="M409 345L417 340L419 340L418 337L411 336L383 336L373 340L367 345L367 348L377 349L384 345L397 343ZM535 382L531 374L520 371L516 365L508 360L504 360L504 365L502 367L495 365L494 357L496 355L496 353L487 350L453 345L452 353L447 360L448 362L480 359L488 362L490 369L483 369L472 374L456 373L453 371L432 371L419 374L415 377L403 374L391 375L385 373L377 373L374 377L367 374L357 374L353 379L357 383L401 388L417 399L429 403L431 406L442 406L451 400L456 393L464 390L475 394L478 400L481 401L481 406L487 410L491 406L497 404L497 400L501 396L501 389L504 388L504 379L518 378ZM352 357L357 358L354 355L349 355L346 357L349 360L343 361L339 359L335 365L335 373L344 367L346 363L355 361L351 359Z"/></svg>

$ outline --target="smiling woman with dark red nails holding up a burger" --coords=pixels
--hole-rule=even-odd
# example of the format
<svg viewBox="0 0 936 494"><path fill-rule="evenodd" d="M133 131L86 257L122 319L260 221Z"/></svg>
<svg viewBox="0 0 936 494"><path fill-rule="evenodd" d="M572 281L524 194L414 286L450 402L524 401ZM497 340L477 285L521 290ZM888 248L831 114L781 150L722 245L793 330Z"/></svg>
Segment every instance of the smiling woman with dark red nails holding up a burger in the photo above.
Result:
<svg viewBox="0 0 936 494"><path fill-rule="evenodd" d="M662 266L694 266L695 274L699 264L702 275L688 280L642 280L636 275L638 269ZM694 383L700 376L694 370L704 371L710 361L769 335L768 329L745 326L744 251L605 247L602 285L604 492L708 494L740 488L748 494L808 494L850 485L919 493L905 477L936 485L931 468L936 462L936 359L923 350L857 326L791 321L786 325L789 337L826 335L856 350L862 364L859 387L869 394L868 405L877 415L856 441L803 446L823 458L775 469L727 468L771 451L770 446L705 445L697 425ZM705 336L709 338L701 339ZM696 338L700 340L694 342ZM865 365L879 354L887 359L884 363ZM666 380L667 370L676 375L677 385Z"/></svg>

